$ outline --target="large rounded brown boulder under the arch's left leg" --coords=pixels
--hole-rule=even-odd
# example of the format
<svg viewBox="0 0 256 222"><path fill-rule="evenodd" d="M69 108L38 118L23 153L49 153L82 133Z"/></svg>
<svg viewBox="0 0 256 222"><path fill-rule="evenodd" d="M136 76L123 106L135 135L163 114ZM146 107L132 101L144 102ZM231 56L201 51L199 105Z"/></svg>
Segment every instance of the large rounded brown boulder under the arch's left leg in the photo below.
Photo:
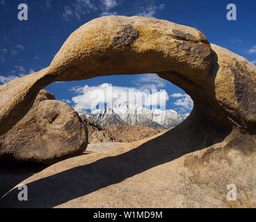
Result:
<svg viewBox="0 0 256 222"><path fill-rule="evenodd" d="M87 128L77 112L41 90L25 117L0 136L0 162L52 164L80 155L87 144Z"/></svg>

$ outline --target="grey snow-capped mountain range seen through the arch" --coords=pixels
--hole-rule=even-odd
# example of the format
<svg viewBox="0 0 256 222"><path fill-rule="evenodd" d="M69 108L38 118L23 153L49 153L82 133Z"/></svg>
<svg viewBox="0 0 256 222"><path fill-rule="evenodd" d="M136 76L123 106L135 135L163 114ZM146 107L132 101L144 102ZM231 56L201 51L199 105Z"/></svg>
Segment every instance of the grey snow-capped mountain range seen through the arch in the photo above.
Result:
<svg viewBox="0 0 256 222"><path fill-rule="evenodd" d="M76 109L79 114L90 117L95 123L102 126L112 125L143 125L150 128L173 128L184 121L187 114L179 114L174 110L148 110L143 105L131 102L113 105L112 107L87 112L81 108Z"/></svg>

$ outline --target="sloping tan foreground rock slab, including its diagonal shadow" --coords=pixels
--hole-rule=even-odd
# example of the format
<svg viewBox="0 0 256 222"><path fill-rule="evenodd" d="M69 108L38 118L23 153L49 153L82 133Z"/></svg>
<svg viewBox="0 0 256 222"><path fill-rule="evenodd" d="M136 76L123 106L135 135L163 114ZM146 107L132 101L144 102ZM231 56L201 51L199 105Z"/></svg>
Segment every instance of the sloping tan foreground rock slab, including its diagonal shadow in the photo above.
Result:
<svg viewBox="0 0 256 222"><path fill-rule="evenodd" d="M28 186L28 201L17 200L15 187L0 205L256 207L255 137L234 130L222 142L185 154L193 135L180 134L184 124L122 148L51 165L20 183ZM237 200L227 200L230 184L237 187Z"/></svg>

